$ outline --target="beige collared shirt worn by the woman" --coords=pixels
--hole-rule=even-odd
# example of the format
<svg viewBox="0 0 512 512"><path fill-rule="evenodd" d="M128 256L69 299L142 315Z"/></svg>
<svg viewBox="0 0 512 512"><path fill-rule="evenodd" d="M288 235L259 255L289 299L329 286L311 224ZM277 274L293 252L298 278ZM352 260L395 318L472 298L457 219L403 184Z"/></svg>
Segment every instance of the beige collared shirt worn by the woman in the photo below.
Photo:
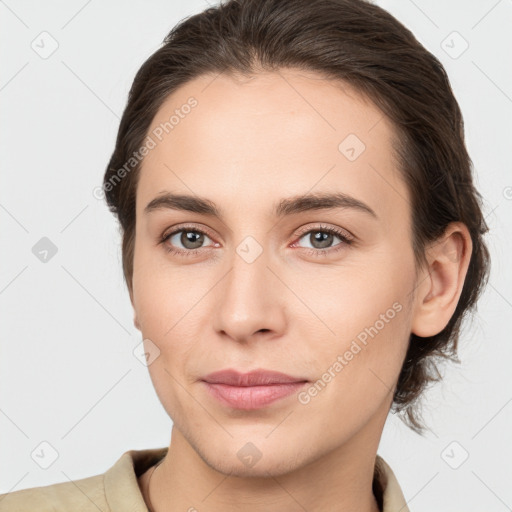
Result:
<svg viewBox="0 0 512 512"><path fill-rule="evenodd" d="M104 474L0 494L0 512L147 512L137 477L167 450L130 450ZM376 496L378 487L382 487L382 512L409 512L393 471L380 455L374 473Z"/></svg>

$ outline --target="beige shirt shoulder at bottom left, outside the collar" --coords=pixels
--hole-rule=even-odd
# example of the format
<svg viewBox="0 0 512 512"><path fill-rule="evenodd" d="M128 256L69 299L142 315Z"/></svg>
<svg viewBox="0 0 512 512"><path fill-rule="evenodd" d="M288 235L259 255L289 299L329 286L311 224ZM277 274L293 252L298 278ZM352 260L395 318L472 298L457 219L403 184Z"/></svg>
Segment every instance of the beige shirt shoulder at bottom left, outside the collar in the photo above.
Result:
<svg viewBox="0 0 512 512"><path fill-rule="evenodd" d="M103 476L0 494L0 512L108 511Z"/></svg>

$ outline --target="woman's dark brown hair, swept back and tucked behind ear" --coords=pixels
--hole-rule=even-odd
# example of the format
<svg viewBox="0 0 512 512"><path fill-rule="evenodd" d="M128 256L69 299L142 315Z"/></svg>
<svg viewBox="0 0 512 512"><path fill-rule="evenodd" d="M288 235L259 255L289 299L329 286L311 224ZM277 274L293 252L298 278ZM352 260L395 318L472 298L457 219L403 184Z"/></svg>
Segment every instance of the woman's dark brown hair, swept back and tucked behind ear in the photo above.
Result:
<svg viewBox="0 0 512 512"><path fill-rule="evenodd" d="M204 74L251 76L298 68L352 86L394 128L393 151L410 194L416 269L448 224L463 222L472 254L457 307L430 337L411 333L392 412L423 434L420 395L441 380L437 362L459 363L461 321L487 283L488 226L475 189L464 124L447 74L404 25L367 0L228 0L181 20L137 72L123 112L103 191L122 232L122 261L132 294L135 199L143 144L166 98ZM125 172L121 172L122 170ZM122 179L120 179L122 178Z"/></svg>

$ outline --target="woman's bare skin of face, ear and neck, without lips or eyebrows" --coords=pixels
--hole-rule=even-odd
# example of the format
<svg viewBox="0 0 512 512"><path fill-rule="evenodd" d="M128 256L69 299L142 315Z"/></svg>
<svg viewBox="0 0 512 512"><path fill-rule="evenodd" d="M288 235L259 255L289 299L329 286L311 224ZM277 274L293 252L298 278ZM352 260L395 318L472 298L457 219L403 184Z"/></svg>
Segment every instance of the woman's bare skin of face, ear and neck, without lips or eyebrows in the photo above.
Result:
<svg viewBox="0 0 512 512"><path fill-rule="evenodd" d="M145 157L137 189L134 323L160 350L148 368L173 420L151 479L153 509L375 512L375 455L410 333L437 334L453 315L470 235L451 224L416 275L393 127L372 103L303 70L215 76L167 98L148 133L190 96L198 105ZM354 161L338 149L350 133L366 145ZM223 218L145 214L163 191L206 197ZM349 208L272 215L283 198L333 191L377 218ZM197 247L181 232L158 243L182 223L209 233L194 256L166 252ZM353 243L333 235L320 245L320 225L348 231ZM236 251L247 236L262 249L252 263ZM314 383L394 303L401 311L307 404L291 395L240 411L200 382L224 368L265 368ZM248 442L261 454L252 466L237 456ZM138 480L146 501L150 471Z"/></svg>

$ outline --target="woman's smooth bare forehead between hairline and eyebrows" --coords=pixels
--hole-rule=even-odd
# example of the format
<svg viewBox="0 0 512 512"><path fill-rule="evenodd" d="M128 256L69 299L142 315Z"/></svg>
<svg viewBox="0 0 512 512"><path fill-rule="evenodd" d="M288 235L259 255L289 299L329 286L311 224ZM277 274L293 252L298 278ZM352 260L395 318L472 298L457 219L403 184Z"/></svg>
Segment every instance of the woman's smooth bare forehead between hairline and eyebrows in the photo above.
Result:
<svg viewBox="0 0 512 512"><path fill-rule="evenodd" d="M312 72L200 76L166 99L148 134L155 147L141 167L138 211L164 189L253 206L312 189L381 209L407 195L388 119L349 85Z"/></svg>

